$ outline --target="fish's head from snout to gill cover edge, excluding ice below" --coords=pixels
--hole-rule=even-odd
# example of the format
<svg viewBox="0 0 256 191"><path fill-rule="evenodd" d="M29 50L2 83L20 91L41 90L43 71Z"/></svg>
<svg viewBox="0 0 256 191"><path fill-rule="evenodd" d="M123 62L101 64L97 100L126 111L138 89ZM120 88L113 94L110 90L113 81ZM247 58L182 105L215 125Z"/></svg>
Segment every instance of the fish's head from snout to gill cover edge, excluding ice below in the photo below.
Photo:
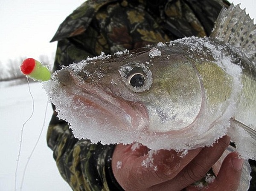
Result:
<svg viewBox="0 0 256 191"><path fill-rule="evenodd" d="M83 105L78 112L100 126L175 134L195 121L204 100L198 71L182 51L141 48L98 57L57 71L55 79Z"/></svg>

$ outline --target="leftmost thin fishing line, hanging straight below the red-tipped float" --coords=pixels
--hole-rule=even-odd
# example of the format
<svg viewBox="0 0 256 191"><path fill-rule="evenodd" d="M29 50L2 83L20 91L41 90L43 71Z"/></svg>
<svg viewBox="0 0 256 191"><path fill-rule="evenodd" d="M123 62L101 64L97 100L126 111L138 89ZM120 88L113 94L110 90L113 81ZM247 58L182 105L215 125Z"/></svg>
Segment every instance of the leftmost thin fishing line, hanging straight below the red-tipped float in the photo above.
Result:
<svg viewBox="0 0 256 191"><path fill-rule="evenodd" d="M16 164L16 169L15 169L15 191L17 189L17 171L18 171L18 166L19 166L19 162L20 162L20 152L21 152L22 141L23 141L23 130L25 128L26 123L32 118L32 116L34 114L34 109L35 109L35 101L34 101L34 97L33 97L32 93L31 93L31 90L30 90L29 78L27 78L27 81L28 81L29 94L30 94L30 97L32 99L32 113L29 116L29 118L25 121L25 123L23 123L22 128L21 128L20 145L19 145L19 151L18 151L18 156L17 156L17 164Z"/></svg>

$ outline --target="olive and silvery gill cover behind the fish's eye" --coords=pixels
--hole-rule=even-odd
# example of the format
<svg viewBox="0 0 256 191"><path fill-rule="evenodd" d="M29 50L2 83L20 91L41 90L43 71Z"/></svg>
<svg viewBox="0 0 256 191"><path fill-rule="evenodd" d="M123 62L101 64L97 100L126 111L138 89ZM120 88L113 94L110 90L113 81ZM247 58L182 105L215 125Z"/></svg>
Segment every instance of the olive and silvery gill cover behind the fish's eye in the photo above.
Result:
<svg viewBox="0 0 256 191"><path fill-rule="evenodd" d="M145 101L150 131L168 132L186 128L201 110L201 83L194 66L178 60L168 64L153 74L153 84Z"/></svg>

